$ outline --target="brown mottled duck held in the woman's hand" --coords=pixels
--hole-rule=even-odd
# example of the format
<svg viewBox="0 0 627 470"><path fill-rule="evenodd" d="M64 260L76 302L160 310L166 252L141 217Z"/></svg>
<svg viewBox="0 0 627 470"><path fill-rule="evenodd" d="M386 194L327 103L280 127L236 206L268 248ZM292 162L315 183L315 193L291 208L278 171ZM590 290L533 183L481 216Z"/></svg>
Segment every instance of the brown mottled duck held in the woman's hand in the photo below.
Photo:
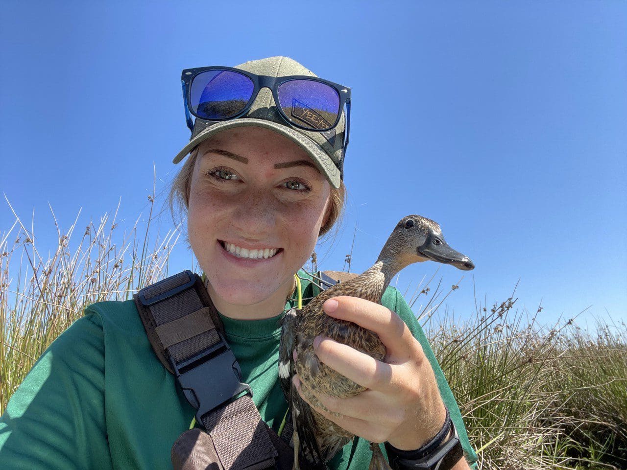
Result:
<svg viewBox="0 0 627 470"><path fill-rule="evenodd" d="M356 323L328 316L322 305L335 296L360 297L381 304L391 279L409 264L424 261L451 264L464 271L475 268L468 256L446 243L437 222L409 215L396 224L371 268L321 291L300 310L293 308L283 315L278 376L292 416L293 470L327 469L326 462L355 437L317 412L315 407L326 408L317 400L313 390L339 398L366 390L320 362L314 351L314 338L318 335L332 338L379 361L383 361L386 355L386 347L376 333ZM314 407L298 394L292 383L295 374L300 379L301 393ZM390 470L379 445L371 442L370 447L369 469Z"/></svg>

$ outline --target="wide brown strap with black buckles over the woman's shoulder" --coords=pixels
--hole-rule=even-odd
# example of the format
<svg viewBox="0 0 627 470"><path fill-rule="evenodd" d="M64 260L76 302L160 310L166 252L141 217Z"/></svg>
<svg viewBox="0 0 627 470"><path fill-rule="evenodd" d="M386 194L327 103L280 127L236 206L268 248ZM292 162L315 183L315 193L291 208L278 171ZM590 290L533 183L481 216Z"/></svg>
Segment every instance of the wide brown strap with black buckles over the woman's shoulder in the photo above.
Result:
<svg viewBox="0 0 627 470"><path fill-rule="evenodd" d="M218 467L274 467L277 449L252 390L241 382L240 366L200 276L183 271L145 287L133 300L155 354L174 374L197 410L197 422L211 437Z"/></svg>

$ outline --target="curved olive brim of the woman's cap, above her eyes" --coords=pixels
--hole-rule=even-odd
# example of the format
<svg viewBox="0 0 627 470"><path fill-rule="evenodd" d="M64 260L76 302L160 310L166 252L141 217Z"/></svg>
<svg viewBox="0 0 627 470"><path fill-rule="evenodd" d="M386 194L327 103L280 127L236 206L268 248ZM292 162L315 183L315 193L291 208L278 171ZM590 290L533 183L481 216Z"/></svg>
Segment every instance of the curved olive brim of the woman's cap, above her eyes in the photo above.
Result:
<svg viewBox="0 0 627 470"><path fill-rule="evenodd" d="M180 162L187 156L187 154L189 154L189 152L192 151L192 149L194 149L194 147L196 147L196 145L203 142L206 138L209 138L223 130L234 127L265 127L273 130L274 132L280 133L281 135L285 135L285 137L292 140L292 142L300 145L300 147L305 150L310 157L312 157L312 160L314 160L320 172L327 177L327 180L329 180L330 184L335 187L335 189L340 187L340 170L337 169L333 160L330 159L329 155L327 155L324 150L320 149L315 142L297 130L265 119L239 118L213 124L211 127L208 127L206 130L196 135L196 137L192 138L192 140L189 141L189 144L183 147L181 152L174 157L172 163L176 164Z"/></svg>

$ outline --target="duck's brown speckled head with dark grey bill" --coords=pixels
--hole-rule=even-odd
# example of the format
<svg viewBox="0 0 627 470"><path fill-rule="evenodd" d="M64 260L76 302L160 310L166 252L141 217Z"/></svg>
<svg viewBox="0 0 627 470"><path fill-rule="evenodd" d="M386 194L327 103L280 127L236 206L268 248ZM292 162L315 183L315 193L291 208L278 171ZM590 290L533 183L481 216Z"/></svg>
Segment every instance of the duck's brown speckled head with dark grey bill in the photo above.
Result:
<svg viewBox="0 0 627 470"><path fill-rule="evenodd" d="M468 256L448 246L437 222L417 215L403 217L396 224L379 254L379 261L393 262L399 267L436 261L463 271L475 268Z"/></svg>

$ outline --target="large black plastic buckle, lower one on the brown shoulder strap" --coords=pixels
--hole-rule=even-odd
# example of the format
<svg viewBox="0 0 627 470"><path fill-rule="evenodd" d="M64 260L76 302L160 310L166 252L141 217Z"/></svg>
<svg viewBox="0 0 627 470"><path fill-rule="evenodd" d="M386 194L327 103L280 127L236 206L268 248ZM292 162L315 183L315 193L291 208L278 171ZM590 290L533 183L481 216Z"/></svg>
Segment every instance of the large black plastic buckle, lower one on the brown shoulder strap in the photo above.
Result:
<svg viewBox="0 0 627 470"><path fill-rule="evenodd" d="M220 341L208 350L181 363L169 357L177 382L187 398L196 408L196 421L203 424L203 416L228 402L241 392L253 396L248 384L241 382L241 370L233 351L221 332Z"/></svg>

